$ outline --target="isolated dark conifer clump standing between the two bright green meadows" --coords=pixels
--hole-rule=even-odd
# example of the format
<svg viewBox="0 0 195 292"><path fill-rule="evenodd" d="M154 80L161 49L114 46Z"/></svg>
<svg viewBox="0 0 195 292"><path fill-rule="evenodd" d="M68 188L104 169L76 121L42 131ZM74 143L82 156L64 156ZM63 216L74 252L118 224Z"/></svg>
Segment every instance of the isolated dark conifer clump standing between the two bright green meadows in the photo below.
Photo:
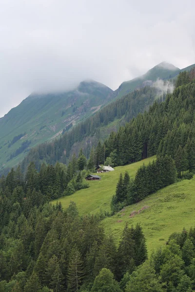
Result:
<svg viewBox="0 0 195 292"><path fill-rule="evenodd" d="M156 161L139 167L135 179L128 172L124 178L120 173L116 193L111 201L115 213L124 206L137 203L157 190L176 182L175 161L168 155L157 157Z"/></svg>

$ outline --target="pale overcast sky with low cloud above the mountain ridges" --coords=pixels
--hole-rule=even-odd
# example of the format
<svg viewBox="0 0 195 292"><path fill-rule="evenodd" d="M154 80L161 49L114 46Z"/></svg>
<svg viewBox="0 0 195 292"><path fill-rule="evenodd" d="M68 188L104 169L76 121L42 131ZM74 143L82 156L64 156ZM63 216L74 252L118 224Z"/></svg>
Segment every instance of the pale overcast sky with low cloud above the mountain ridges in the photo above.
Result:
<svg viewBox="0 0 195 292"><path fill-rule="evenodd" d="M0 117L31 92L194 64L194 19L194 0L0 0Z"/></svg>

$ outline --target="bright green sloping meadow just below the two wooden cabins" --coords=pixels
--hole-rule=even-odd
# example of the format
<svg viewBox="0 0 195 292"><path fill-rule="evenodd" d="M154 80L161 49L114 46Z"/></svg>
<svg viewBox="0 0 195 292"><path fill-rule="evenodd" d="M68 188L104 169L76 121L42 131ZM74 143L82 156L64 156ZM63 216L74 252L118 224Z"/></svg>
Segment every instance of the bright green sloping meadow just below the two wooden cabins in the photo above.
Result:
<svg viewBox="0 0 195 292"><path fill-rule="evenodd" d="M154 158L150 157L134 164L118 166L115 167L115 171L98 174L101 176L101 181L89 182L89 188L79 190L72 196L60 198L58 201L62 203L64 209L69 206L70 201L76 202L80 215L95 214L100 210L110 212L110 202L115 194L120 172L124 174L125 171L128 171L130 176L134 177L140 165L148 164ZM53 202L56 203L56 201Z"/></svg>

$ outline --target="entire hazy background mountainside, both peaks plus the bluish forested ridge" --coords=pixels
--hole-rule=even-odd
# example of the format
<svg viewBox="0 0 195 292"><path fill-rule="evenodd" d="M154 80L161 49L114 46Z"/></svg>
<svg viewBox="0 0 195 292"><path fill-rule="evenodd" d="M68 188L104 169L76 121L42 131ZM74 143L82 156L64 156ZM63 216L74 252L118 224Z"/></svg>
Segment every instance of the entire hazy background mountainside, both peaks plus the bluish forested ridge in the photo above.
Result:
<svg viewBox="0 0 195 292"><path fill-rule="evenodd" d="M191 65L185 69L189 71L193 67ZM69 157L74 152L78 153L81 147L88 157L90 147L97 145L98 139L103 141L111 131L116 131L139 112L148 110L154 100L169 89L170 84L173 88L173 83L167 82L163 86L163 82L183 71L162 62L144 75L123 82L116 91L86 80L72 91L31 94L0 119L0 170L18 164L28 153L30 156L27 155L26 161L37 160L34 146L58 138L73 126L66 149L62 144L58 150L52 150L52 155L47 149L46 154L40 157L47 157L47 163L55 163L64 154ZM156 84L157 79L163 80L161 88ZM59 145L61 142L55 143ZM32 151L29 152L30 149Z"/></svg>

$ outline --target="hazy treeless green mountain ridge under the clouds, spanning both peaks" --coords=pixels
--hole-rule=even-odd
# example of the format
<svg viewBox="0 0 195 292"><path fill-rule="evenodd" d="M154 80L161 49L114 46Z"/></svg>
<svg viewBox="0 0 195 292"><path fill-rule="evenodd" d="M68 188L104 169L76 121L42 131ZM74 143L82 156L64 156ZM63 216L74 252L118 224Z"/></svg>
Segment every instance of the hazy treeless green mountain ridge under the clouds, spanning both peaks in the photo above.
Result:
<svg viewBox="0 0 195 292"><path fill-rule="evenodd" d="M194 65L188 66L186 70L189 71L192 67ZM172 64L161 62L142 76L123 82L116 91L112 91L104 84L88 79L81 81L72 91L56 93L34 92L30 94L19 106L0 118L1 169L18 164L30 148L58 137L78 122L93 115L100 108L104 108L107 104L119 99L121 95L133 92L132 86L134 90L152 86L158 78L167 80L178 75L184 69L180 70ZM125 88L126 85L127 87ZM147 96L147 94L149 95ZM129 98L133 98L133 96ZM140 101L142 103L147 98L150 99L150 102L146 103L147 107L144 108L142 105L142 110L147 110L148 106L152 105L155 96L151 98L151 92L148 91L146 95L144 93L139 98L141 98ZM139 99L137 102L139 104ZM136 107L135 102L133 106L134 108ZM136 114L133 116L136 116ZM17 137L23 133L25 135L17 140ZM13 139L17 140L14 144L11 143ZM21 148L23 142L26 142L23 144L25 146L24 149ZM8 147L10 143L11 146ZM18 149L20 149L21 153L15 156L15 151ZM14 156L13 152L15 153Z"/></svg>

